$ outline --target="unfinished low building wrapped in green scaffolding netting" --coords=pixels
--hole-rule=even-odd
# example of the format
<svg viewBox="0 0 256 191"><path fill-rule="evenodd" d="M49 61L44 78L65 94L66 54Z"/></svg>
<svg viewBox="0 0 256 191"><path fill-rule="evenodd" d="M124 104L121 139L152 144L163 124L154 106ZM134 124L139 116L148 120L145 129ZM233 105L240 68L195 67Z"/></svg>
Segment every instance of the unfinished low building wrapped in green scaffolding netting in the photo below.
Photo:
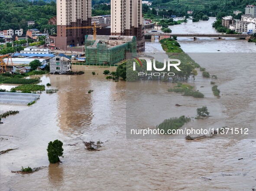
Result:
<svg viewBox="0 0 256 191"><path fill-rule="evenodd" d="M126 53L136 55L135 36L85 36L85 57L87 64L115 64L126 59Z"/></svg>

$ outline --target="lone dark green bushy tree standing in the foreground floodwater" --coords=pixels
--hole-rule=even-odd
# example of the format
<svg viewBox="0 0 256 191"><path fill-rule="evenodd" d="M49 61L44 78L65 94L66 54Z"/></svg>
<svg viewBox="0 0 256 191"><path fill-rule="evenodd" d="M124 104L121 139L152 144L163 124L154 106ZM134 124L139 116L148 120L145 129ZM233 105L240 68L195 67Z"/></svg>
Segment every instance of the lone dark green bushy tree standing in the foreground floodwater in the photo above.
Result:
<svg viewBox="0 0 256 191"><path fill-rule="evenodd" d="M57 163L59 160L59 157L63 155L63 143L62 141L59 141L58 139L55 141L50 141L47 147L48 152L48 160L50 163Z"/></svg>

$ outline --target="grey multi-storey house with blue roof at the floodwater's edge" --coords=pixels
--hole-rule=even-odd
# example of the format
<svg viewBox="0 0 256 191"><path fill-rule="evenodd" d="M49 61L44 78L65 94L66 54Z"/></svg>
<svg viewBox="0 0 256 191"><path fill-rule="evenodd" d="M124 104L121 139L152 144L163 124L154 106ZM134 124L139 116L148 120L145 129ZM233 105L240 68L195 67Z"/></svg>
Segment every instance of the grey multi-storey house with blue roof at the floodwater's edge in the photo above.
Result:
<svg viewBox="0 0 256 191"><path fill-rule="evenodd" d="M65 54L58 54L50 59L51 73L65 73L71 71L71 58Z"/></svg>

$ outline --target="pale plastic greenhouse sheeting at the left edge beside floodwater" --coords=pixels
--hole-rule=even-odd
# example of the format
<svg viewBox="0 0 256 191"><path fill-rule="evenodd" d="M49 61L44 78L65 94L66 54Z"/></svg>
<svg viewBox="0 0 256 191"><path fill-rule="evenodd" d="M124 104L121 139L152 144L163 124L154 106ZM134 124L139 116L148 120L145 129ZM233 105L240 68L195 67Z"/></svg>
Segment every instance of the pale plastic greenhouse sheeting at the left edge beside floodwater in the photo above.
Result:
<svg viewBox="0 0 256 191"><path fill-rule="evenodd" d="M0 92L0 103L27 105L39 99L38 94Z"/></svg>

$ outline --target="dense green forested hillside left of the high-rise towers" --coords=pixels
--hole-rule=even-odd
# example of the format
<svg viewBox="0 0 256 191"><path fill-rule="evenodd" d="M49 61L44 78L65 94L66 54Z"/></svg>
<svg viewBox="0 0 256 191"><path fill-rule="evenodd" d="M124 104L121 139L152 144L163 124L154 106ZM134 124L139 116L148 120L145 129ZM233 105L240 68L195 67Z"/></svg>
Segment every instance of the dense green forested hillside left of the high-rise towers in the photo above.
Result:
<svg viewBox="0 0 256 191"><path fill-rule="evenodd" d="M49 19L56 16L56 3L46 3L42 0L30 2L28 0L0 0L0 31L12 28L27 30L27 21L33 20L40 31L56 29L49 25ZM55 30L56 31L56 30Z"/></svg>

